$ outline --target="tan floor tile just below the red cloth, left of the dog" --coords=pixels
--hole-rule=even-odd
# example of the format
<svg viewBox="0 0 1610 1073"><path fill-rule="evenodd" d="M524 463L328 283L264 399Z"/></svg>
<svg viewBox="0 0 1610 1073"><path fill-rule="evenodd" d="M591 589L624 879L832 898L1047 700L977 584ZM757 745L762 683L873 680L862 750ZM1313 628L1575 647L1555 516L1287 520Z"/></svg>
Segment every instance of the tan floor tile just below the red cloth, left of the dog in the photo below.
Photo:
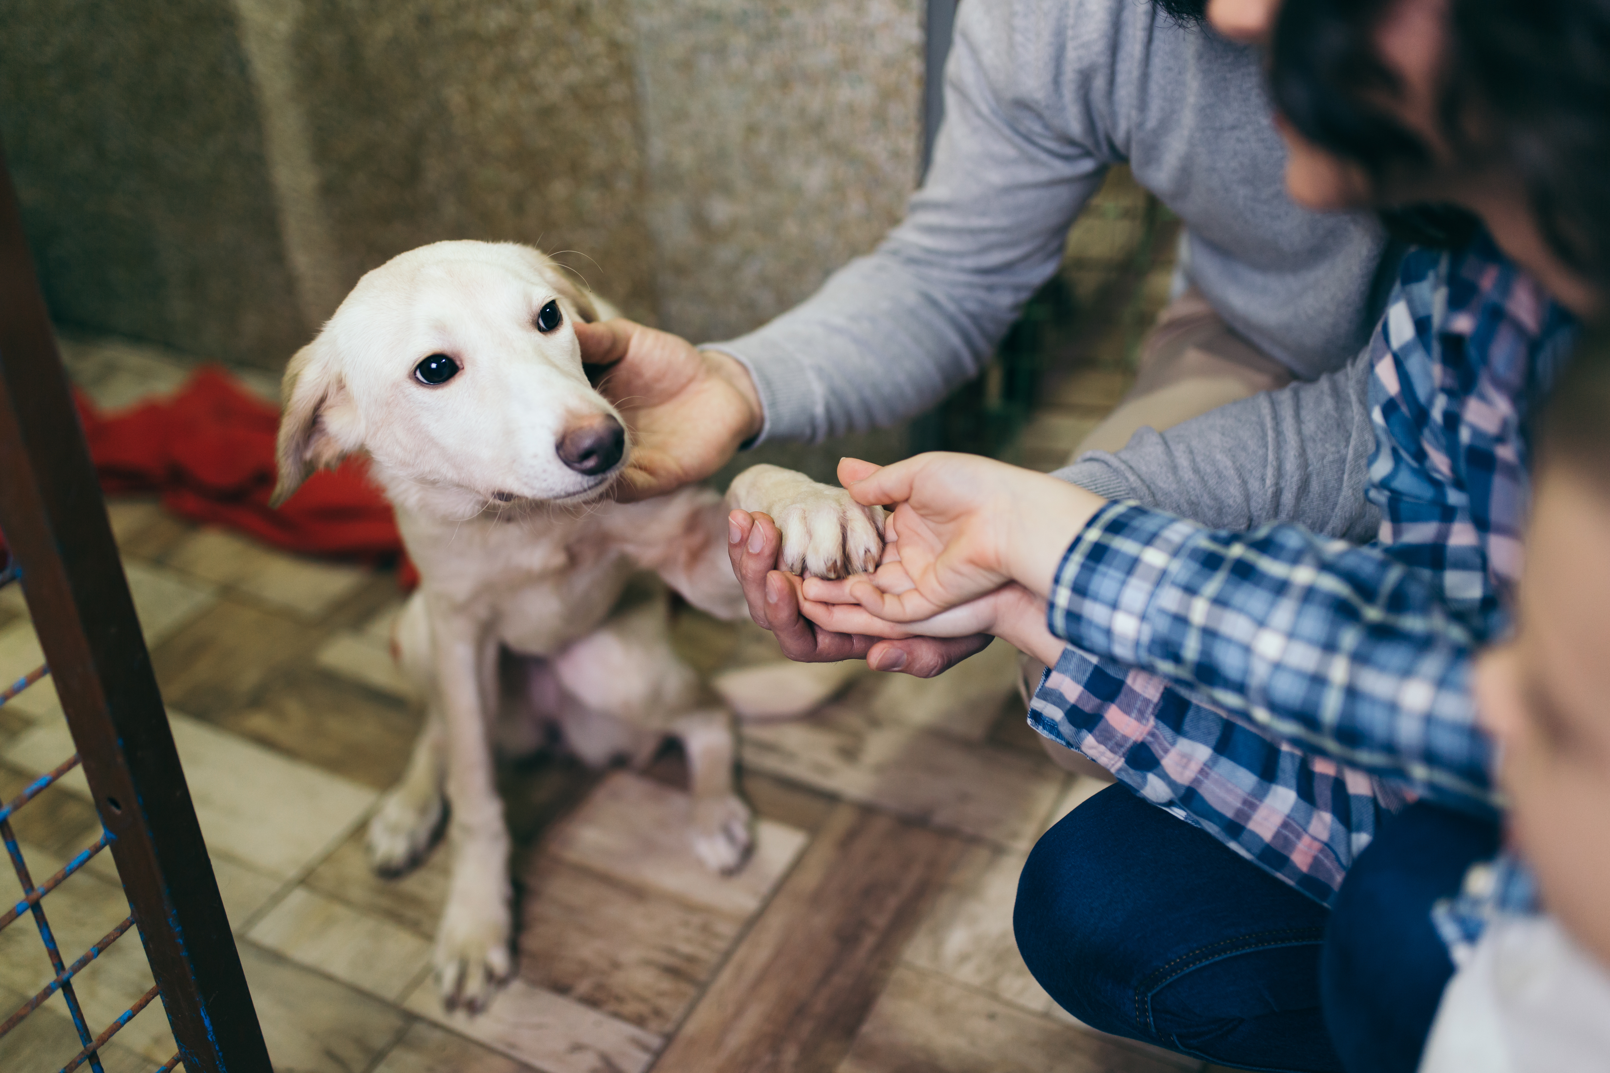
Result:
<svg viewBox="0 0 1610 1073"><path fill-rule="evenodd" d="M317 618L369 576L361 566L275 552L224 529L196 529L164 561L216 586L250 592L258 600L303 618Z"/></svg>

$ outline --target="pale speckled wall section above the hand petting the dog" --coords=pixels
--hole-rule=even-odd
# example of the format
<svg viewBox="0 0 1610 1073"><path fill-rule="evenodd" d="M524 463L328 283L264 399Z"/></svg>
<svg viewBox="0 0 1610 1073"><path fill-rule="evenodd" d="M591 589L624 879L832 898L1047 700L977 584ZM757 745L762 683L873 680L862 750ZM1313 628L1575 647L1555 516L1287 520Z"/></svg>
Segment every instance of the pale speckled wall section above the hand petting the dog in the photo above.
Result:
<svg viewBox="0 0 1610 1073"><path fill-rule="evenodd" d="M900 219L921 0L634 0L667 328L758 327Z"/></svg>

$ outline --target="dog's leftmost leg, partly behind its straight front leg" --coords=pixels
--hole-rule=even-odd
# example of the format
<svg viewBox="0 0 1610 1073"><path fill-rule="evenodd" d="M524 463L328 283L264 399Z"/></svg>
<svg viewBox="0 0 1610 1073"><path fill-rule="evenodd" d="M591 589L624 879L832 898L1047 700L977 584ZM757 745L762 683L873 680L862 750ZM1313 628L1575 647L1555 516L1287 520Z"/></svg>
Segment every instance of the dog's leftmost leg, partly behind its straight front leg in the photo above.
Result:
<svg viewBox="0 0 1610 1073"><path fill-rule="evenodd" d="M369 861L380 875L401 875L419 864L441 832L446 738L436 709L430 656L430 621L419 594L407 602L391 634L391 655L419 697L427 698L425 726L414 742L402 779L380 800L369 820Z"/></svg>

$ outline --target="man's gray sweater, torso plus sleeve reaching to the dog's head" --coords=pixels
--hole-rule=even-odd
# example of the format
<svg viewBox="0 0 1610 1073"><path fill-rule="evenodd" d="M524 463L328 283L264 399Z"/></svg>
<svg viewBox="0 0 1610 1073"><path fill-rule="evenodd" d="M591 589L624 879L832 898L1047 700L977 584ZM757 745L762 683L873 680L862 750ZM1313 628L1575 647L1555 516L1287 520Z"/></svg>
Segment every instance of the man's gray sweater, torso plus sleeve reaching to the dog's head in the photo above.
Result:
<svg viewBox="0 0 1610 1073"><path fill-rule="evenodd" d="M1383 236L1286 198L1270 116L1256 50L1146 0L963 3L905 220L799 307L713 344L755 378L760 439L890 425L974 376L1119 161L1182 217L1183 273L1236 331L1302 380L1340 368L1385 296Z"/></svg>

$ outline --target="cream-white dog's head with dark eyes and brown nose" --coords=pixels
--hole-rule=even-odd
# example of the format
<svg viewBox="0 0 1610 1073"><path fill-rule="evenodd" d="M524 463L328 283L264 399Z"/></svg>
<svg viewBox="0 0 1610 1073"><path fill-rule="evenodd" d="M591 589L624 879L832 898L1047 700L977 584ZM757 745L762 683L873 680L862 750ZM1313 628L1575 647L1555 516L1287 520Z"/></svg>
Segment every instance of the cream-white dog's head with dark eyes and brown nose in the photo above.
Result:
<svg viewBox="0 0 1610 1073"><path fill-rule="evenodd" d="M359 449L394 497L459 518L602 495L630 444L581 370L578 317L592 299L528 246L393 257L285 370L274 502Z"/></svg>

